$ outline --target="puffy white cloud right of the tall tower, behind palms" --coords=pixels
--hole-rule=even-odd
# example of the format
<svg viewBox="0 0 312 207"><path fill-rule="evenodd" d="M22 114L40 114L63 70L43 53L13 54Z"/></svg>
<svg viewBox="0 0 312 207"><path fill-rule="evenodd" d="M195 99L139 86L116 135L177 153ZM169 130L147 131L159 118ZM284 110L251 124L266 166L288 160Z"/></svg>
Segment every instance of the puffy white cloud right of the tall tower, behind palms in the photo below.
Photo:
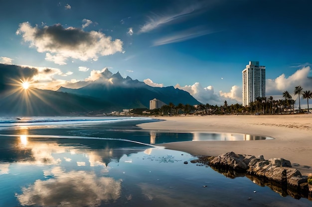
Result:
<svg viewBox="0 0 312 207"><path fill-rule="evenodd" d="M304 90L312 90L312 79L309 78L311 72L310 66L298 69L289 77L283 73L275 79L266 80L266 96L280 95L288 91L293 95L295 87L301 85Z"/></svg>

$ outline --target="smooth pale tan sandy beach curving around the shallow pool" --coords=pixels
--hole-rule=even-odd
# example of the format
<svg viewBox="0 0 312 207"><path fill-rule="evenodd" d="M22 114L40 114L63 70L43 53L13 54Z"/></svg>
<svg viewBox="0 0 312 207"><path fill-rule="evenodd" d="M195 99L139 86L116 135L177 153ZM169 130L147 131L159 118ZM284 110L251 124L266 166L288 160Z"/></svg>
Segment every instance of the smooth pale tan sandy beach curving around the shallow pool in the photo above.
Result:
<svg viewBox="0 0 312 207"><path fill-rule="evenodd" d="M192 155L264 155L283 157L303 175L312 173L312 115L221 115L156 117L164 121L140 124L144 130L191 133L239 133L272 137L253 141L185 141L162 144Z"/></svg>

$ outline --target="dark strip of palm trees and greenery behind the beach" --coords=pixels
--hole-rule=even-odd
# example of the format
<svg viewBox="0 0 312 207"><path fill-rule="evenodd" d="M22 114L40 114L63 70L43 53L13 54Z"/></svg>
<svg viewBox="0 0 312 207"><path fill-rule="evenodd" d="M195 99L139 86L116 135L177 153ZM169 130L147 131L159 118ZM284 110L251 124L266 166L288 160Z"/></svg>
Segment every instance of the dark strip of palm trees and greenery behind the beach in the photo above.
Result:
<svg viewBox="0 0 312 207"><path fill-rule="evenodd" d="M289 91L284 91L282 97L284 99L274 100L273 96L270 97L257 97L255 101L251 102L248 106L242 104L228 105L227 101L224 101L223 105L210 105L210 104L198 104L189 105L181 104L174 105L169 103L159 109L150 110L152 115L220 115L220 114L296 114L296 113L310 113L309 99L312 98L312 92L310 90L304 91L302 86L296 86L294 89L294 95L298 95L293 99ZM302 96L301 96L302 95ZM308 111L301 108L300 97L307 99ZM299 108L295 109L296 100L299 101Z"/></svg>

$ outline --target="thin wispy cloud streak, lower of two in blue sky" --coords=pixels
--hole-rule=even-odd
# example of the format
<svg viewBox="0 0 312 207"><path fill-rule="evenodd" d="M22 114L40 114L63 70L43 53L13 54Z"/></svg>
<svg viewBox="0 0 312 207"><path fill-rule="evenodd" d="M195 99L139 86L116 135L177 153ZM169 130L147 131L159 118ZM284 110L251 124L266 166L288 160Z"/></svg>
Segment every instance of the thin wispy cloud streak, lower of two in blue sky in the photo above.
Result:
<svg viewBox="0 0 312 207"><path fill-rule="evenodd" d="M208 29L200 28L200 27L194 27L187 29L185 31L181 31L179 33L169 35L163 38L160 38L156 40L153 44L153 46L159 46L159 45L165 45L175 42L183 42L189 39L193 39L196 37L200 37L203 35L214 33L215 31L211 31Z"/></svg>

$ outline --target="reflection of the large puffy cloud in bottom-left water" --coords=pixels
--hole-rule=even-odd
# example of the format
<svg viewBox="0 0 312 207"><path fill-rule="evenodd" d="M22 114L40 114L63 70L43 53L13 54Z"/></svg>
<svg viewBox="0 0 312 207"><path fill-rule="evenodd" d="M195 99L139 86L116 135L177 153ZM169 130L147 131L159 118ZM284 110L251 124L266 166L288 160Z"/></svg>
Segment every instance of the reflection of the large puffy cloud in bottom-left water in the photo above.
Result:
<svg viewBox="0 0 312 207"><path fill-rule="evenodd" d="M62 172L52 169L53 177L36 180L24 187L17 200L22 206L96 207L102 202L116 201L121 194L121 180L97 177L93 172Z"/></svg>

